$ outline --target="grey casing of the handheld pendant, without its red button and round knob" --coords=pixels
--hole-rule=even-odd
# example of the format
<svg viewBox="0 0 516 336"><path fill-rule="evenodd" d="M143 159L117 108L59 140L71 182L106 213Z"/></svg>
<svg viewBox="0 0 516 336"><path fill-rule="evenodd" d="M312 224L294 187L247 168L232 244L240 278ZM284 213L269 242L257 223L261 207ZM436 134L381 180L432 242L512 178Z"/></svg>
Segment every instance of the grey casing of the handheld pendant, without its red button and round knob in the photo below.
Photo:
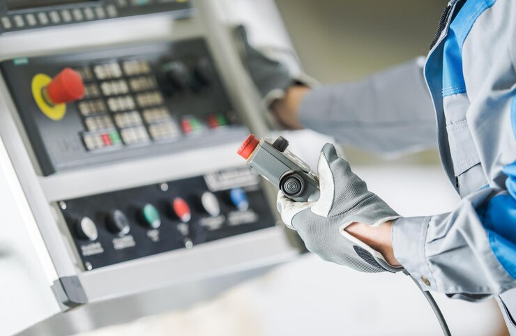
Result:
<svg viewBox="0 0 516 336"><path fill-rule="evenodd" d="M312 173L310 166L287 149L279 151L273 143L273 139L261 139L248 158L247 165L277 188L280 188L280 181L285 174L297 173L305 181L305 188L301 194L290 198L301 202L317 201L319 179Z"/></svg>

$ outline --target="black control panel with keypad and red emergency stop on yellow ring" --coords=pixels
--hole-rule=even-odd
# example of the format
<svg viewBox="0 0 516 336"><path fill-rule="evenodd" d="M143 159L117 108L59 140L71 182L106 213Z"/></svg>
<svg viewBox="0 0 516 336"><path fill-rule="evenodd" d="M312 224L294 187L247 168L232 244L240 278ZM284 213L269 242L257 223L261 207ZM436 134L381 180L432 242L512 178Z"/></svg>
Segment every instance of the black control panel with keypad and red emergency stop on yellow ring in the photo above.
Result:
<svg viewBox="0 0 516 336"><path fill-rule="evenodd" d="M1 69L45 176L245 134L201 38L18 58Z"/></svg>

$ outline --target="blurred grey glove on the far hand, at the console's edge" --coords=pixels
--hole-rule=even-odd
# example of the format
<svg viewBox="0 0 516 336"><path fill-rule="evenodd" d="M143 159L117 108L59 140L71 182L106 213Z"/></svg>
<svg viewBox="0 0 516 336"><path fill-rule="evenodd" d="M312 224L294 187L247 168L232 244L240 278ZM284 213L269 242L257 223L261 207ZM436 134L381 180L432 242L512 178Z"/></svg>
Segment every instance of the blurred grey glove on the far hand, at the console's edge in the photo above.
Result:
<svg viewBox="0 0 516 336"><path fill-rule="evenodd" d="M301 72L293 74L286 63L274 59L273 56L266 56L264 52L259 52L252 47L243 25L236 26L234 32L240 45L239 52L243 65L248 70L266 107L270 107L274 100L283 98L290 86L317 84L308 75ZM288 56L291 57L293 54Z"/></svg>

